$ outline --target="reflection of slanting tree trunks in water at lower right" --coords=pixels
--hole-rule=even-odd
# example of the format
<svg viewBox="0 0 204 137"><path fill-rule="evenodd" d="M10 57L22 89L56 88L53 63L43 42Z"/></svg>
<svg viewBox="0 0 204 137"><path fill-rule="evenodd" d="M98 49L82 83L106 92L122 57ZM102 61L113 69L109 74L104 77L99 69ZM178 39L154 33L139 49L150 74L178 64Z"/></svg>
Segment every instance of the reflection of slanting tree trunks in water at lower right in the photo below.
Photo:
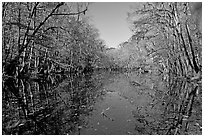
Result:
<svg viewBox="0 0 204 137"><path fill-rule="evenodd" d="M200 134L202 119L201 84L174 78L167 92L158 92L145 113L133 113L139 134ZM162 94L162 95L158 95Z"/></svg>

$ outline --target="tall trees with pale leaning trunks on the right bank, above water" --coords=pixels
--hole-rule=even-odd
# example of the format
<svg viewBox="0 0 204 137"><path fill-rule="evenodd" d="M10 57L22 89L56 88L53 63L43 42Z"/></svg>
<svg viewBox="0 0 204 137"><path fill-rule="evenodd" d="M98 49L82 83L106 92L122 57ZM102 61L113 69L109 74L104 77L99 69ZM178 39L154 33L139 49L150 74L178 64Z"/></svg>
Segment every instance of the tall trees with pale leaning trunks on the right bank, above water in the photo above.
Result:
<svg viewBox="0 0 204 137"><path fill-rule="evenodd" d="M131 29L161 70L194 79L201 77L201 32L191 3L141 3L128 14Z"/></svg>

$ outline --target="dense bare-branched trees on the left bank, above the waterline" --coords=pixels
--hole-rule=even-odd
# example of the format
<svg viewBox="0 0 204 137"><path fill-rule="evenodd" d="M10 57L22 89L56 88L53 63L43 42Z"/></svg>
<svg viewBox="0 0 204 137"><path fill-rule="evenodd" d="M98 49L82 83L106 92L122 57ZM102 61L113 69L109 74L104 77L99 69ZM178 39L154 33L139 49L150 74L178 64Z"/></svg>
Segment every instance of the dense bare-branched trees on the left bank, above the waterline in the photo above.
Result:
<svg viewBox="0 0 204 137"><path fill-rule="evenodd" d="M85 17L88 6L89 3L3 3L3 75L97 67L104 57L105 44Z"/></svg>

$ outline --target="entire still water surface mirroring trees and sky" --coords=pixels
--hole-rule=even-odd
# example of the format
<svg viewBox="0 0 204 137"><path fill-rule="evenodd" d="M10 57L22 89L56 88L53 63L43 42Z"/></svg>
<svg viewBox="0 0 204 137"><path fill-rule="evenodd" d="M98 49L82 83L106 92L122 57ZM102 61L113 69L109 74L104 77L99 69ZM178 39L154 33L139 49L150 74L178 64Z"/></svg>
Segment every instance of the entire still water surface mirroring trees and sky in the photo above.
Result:
<svg viewBox="0 0 204 137"><path fill-rule="evenodd" d="M201 84L94 72L3 83L3 134L201 134Z"/></svg>

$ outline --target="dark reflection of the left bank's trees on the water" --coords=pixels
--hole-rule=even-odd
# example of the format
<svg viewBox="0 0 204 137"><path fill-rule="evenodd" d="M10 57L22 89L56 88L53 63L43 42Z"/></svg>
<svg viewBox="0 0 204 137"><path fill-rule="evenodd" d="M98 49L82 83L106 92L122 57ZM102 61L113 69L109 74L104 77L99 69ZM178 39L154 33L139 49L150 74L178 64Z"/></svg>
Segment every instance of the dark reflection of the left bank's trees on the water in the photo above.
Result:
<svg viewBox="0 0 204 137"><path fill-rule="evenodd" d="M91 74L9 78L3 86L3 134L80 134L101 95L92 80Z"/></svg>

